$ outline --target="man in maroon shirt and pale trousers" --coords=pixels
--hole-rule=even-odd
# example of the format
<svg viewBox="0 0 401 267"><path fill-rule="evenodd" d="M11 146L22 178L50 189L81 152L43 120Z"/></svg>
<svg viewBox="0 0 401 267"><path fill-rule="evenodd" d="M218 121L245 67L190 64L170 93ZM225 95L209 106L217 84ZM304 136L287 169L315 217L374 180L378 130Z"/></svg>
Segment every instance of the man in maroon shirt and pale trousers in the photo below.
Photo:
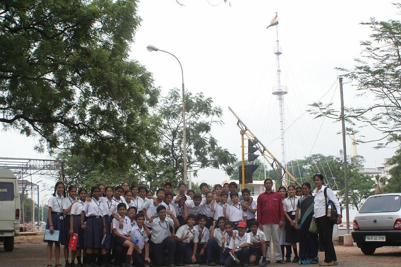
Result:
<svg viewBox="0 0 401 267"><path fill-rule="evenodd" d="M258 197L257 218L259 228L263 230L266 239L273 240L274 257L277 263L286 263L281 255L279 243L280 228L284 226L284 210L281 195L272 190L273 181L267 178L264 182L265 192ZM267 262L270 263L271 248L267 248Z"/></svg>

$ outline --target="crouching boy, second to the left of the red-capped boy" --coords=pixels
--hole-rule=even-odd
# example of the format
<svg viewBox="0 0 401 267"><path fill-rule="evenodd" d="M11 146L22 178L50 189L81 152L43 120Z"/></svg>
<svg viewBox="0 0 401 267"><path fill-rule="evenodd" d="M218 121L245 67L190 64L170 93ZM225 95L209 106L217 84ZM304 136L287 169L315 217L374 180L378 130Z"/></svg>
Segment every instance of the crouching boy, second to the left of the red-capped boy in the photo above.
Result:
<svg viewBox="0 0 401 267"><path fill-rule="evenodd" d="M227 192L225 192L227 194ZM210 266L215 266L216 261L220 263L220 265L224 265L224 257L221 257L224 252L224 243L222 241L223 236L224 239L227 238L226 228L224 227L226 223L226 217L221 216L216 221L213 221L212 227L210 229L210 239L208 241L208 250L207 250L207 257L208 257L208 264ZM218 228L216 228L216 224Z"/></svg>

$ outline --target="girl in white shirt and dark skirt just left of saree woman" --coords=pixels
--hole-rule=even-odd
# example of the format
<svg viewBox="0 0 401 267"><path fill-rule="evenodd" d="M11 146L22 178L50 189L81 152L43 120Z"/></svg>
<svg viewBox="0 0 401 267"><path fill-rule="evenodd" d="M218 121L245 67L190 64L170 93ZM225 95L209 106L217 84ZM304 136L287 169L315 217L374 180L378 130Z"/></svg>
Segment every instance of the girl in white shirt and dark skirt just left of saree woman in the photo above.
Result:
<svg viewBox="0 0 401 267"><path fill-rule="evenodd" d="M292 244L295 257L292 262L298 262L297 243L299 242L298 221L295 219L299 197L295 195L295 186L287 187L288 197L283 201L285 220L285 241ZM291 261L291 251L286 255L286 261Z"/></svg>

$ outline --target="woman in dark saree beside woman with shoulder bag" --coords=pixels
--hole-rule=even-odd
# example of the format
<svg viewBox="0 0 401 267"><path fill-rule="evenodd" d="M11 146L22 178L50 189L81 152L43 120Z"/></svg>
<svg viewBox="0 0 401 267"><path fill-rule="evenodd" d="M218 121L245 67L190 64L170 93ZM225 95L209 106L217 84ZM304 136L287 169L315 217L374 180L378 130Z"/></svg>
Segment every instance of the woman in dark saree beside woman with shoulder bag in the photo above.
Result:
<svg viewBox="0 0 401 267"><path fill-rule="evenodd" d="M318 239L316 233L309 231L313 216L314 196L311 195L310 183L302 184L303 196L299 199L296 211L296 218L299 218L298 228L300 229L299 259L298 264L317 264ZM300 216L298 214L301 214Z"/></svg>

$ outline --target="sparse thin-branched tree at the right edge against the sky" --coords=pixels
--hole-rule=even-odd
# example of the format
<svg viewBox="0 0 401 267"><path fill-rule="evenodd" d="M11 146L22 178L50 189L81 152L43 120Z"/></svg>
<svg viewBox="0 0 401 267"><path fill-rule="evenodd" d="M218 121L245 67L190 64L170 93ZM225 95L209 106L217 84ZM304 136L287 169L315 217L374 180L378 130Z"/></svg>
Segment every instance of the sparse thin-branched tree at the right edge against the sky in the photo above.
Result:
<svg viewBox="0 0 401 267"><path fill-rule="evenodd" d="M401 4L394 4L401 9ZM338 68L342 77L348 79L359 92L359 96L371 99L366 107L346 107L344 118L352 127L350 134L357 134L361 127L373 127L380 134L376 140L363 140L360 136L355 142L379 142L376 148L392 142L401 141L401 23L398 20L388 22L370 19L362 23L372 30L369 41L361 42L362 58L355 59L353 70ZM340 111L334 110L332 103L323 105L313 103L310 112L316 117L327 116L340 120Z"/></svg>

